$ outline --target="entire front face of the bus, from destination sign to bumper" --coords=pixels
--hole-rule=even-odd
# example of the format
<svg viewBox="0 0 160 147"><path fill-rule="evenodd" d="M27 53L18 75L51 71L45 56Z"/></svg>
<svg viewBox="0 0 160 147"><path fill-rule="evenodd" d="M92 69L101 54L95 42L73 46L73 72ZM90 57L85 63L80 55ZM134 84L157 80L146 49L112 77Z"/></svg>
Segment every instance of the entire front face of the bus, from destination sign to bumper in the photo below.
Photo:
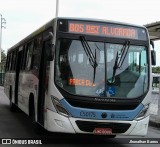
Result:
<svg viewBox="0 0 160 147"><path fill-rule="evenodd" d="M58 113L48 109L49 130L146 135L151 87L147 30L60 19L56 39L50 95Z"/></svg>

